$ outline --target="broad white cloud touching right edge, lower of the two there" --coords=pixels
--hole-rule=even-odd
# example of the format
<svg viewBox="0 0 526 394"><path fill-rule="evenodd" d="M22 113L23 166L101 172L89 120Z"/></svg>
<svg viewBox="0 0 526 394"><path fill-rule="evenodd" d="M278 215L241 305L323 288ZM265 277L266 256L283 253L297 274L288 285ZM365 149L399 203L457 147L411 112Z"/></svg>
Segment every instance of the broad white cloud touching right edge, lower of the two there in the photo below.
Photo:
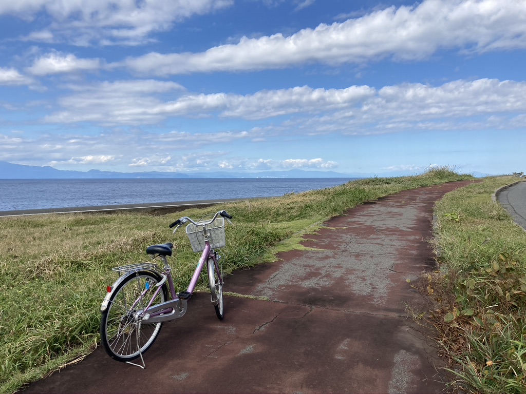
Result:
<svg viewBox="0 0 526 394"><path fill-rule="evenodd" d="M438 87L387 86L358 105L321 111L303 119L297 117L286 127L309 136L408 130L509 130L521 127L514 119L523 113L526 113L526 82L458 80Z"/></svg>

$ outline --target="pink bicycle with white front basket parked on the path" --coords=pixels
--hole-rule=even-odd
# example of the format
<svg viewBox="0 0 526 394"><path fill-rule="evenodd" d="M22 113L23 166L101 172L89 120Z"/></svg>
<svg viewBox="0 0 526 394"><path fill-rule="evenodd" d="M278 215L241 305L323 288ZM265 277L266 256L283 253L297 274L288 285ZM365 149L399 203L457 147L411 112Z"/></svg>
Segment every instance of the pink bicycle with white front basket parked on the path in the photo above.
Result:
<svg viewBox="0 0 526 394"><path fill-rule="evenodd" d="M164 322L183 317L187 301L194 293L199 276L207 264L210 300L217 317L225 316L219 266L221 256L216 249L225 246L225 221L232 216L222 210L211 220L194 221L187 216L169 225L174 233L187 222L186 234L194 252L201 257L186 291L176 294L168 256L173 244L157 244L146 248L151 257L160 257L164 267L156 263L137 263L112 268L119 278L107 287L100 311L100 340L107 354L117 361L145 368L143 353L153 345ZM143 365L131 362L140 357Z"/></svg>

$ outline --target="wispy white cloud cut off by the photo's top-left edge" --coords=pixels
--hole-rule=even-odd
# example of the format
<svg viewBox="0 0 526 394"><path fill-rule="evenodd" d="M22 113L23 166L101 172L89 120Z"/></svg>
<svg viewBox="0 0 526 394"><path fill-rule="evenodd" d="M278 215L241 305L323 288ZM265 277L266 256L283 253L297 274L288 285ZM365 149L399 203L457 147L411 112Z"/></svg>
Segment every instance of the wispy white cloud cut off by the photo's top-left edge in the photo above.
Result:
<svg viewBox="0 0 526 394"><path fill-rule="evenodd" d="M47 31L75 45L137 45L153 32L195 14L229 7L233 0L17 0L0 2L0 15L31 21L42 13L52 19ZM24 39L46 38L35 32ZM47 36L49 38L49 36Z"/></svg>

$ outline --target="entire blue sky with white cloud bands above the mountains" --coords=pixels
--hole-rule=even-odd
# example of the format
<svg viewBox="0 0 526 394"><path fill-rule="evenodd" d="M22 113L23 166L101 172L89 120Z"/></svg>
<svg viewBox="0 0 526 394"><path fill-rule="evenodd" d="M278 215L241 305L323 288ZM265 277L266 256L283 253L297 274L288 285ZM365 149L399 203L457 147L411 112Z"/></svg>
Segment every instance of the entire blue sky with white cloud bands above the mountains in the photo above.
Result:
<svg viewBox="0 0 526 394"><path fill-rule="evenodd" d="M0 160L524 170L523 0L0 3Z"/></svg>

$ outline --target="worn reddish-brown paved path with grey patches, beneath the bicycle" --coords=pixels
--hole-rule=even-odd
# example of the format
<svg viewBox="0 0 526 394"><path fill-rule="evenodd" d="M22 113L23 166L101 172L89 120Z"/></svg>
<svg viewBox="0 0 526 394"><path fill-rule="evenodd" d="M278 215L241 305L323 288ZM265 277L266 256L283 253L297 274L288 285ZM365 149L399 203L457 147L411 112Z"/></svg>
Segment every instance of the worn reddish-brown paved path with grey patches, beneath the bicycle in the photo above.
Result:
<svg viewBox="0 0 526 394"><path fill-rule="evenodd" d="M442 361L408 318L422 298L406 281L433 269L432 207L470 182L370 202L326 223L281 260L227 277L215 317L207 294L164 325L141 370L98 348L26 393L439 393ZM413 282L414 283L414 282Z"/></svg>

